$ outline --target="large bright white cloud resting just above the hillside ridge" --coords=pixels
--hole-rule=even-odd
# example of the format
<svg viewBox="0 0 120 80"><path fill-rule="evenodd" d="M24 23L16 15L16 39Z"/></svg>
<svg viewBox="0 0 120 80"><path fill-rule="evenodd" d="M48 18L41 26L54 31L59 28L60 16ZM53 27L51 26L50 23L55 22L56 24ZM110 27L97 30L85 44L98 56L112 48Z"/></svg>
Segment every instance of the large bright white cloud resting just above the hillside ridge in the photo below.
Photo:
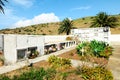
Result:
<svg viewBox="0 0 120 80"><path fill-rule="evenodd" d="M33 19L20 20L16 22L14 27L24 27L33 24L40 23L49 23L49 22L58 22L59 18L54 13L43 13L38 16L35 16Z"/></svg>

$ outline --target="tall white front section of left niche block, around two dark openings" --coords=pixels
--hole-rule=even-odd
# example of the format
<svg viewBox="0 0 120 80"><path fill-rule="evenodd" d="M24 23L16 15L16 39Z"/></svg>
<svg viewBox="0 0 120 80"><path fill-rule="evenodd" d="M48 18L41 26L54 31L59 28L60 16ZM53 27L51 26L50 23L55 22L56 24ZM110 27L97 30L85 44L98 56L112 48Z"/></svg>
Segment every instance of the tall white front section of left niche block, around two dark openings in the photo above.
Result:
<svg viewBox="0 0 120 80"><path fill-rule="evenodd" d="M17 61L17 50L37 47L40 55L44 54L44 37L29 35L4 35L4 56L7 64Z"/></svg>

